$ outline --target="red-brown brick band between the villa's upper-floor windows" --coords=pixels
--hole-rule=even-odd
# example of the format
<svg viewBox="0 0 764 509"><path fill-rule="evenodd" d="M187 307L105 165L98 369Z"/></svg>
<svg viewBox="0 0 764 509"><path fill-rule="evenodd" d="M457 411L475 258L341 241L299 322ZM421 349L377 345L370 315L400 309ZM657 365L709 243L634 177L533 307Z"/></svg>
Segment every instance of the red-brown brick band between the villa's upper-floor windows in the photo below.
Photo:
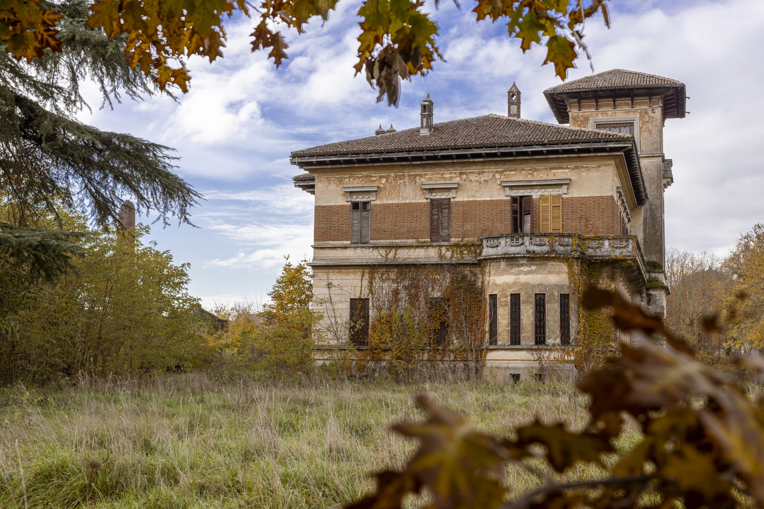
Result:
<svg viewBox="0 0 764 509"><path fill-rule="evenodd" d="M541 205L533 200L531 231L540 228ZM511 201L453 200L451 238L510 234ZM618 212L612 196L562 197L562 233L611 235L618 233ZM429 239L429 202L371 202L371 240ZM314 242L350 240L350 205L316 205Z"/></svg>

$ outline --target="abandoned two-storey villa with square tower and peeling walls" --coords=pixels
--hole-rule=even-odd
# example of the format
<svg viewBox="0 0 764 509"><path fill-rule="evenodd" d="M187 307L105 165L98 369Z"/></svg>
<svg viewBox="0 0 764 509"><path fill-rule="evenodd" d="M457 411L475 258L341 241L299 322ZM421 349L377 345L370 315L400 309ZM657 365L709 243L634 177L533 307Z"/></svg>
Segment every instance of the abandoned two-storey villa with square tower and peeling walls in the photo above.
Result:
<svg viewBox="0 0 764 509"><path fill-rule="evenodd" d="M292 153L315 195L319 362L371 348L375 321L406 309L426 322L420 350L467 345L484 378L512 382L543 376L546 350L574 369L583 285L665 313L663 128L685 117L685 85L613 69L543 93L559 125L522 118L513 84L507 115L435 123L428 95L419 127Z"/></svg>

